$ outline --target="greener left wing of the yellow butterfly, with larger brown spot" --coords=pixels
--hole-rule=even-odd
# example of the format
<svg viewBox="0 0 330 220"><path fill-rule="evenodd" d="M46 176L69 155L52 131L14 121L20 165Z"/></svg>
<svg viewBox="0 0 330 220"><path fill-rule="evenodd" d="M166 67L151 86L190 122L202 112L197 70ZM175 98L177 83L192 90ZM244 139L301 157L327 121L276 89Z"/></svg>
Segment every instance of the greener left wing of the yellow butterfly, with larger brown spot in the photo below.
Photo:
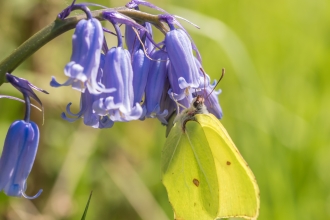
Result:
<svg viewBox="0 0 330 220"><path fill-rule="evenodd" d="M162 181L175 219L214 219L219 186L212 152L204 146L207 140L197 122L192 133L184 133L178 124L166 139L161 160Z"/></svg>

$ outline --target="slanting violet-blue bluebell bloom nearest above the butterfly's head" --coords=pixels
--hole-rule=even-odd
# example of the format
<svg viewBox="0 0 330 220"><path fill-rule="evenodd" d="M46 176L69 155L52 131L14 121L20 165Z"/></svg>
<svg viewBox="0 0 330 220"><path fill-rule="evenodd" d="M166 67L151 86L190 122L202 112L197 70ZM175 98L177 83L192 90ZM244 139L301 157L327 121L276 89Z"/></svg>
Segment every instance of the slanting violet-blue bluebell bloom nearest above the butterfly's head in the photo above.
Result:
<svg viewBox="0 0 330 220"><path fill-rule="evenodd" d="M177 80L181 89L198 88L200 84L198 68L186 33L180 29L167 32L165 46L174 70L173 82Z"/></svg>

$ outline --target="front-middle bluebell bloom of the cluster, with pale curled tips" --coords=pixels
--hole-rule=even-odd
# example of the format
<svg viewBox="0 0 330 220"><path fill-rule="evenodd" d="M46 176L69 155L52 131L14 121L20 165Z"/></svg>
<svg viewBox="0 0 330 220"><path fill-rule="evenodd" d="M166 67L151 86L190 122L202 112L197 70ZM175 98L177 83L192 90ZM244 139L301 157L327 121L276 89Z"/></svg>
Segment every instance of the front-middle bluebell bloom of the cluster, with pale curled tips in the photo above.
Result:
<svg viewBox="0 0 330 220"><path fill-rule="evenodd" d="M137 120L143 109L134 103L133 69L130 53L122 47L111 48L105 56L102 83L105 88L116 88L111 94L101 94L93 108L99 115L108 115L112 121Z"/></svg>

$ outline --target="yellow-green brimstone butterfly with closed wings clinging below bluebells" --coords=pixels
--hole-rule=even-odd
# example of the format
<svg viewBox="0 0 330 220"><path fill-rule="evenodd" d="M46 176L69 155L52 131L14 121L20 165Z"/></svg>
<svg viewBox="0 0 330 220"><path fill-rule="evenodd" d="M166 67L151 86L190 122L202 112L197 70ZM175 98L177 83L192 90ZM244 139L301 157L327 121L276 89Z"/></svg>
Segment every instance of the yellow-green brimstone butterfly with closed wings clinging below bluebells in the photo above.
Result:
<svg viewBox="0 0 330 220"><path fill-rule="evenodd" d="M162 152L162 181L176 220L256 219L256 179L204 98L174 120Z"/></svg>

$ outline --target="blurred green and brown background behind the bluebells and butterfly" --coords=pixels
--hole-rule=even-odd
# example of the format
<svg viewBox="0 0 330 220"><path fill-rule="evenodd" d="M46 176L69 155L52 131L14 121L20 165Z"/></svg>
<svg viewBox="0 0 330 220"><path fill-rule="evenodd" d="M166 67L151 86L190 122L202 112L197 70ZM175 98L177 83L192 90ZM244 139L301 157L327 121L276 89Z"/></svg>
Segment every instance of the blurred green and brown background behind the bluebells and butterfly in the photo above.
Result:
<svg viewBox="0 0 330 220"><path fill-rule="evenodd" d="M257 178L258 219L330 219L330 1L151 2L200 26L182 22L213 79L226 68L219 85L222 123ZM0 60L69 4L1 0ZM61 119L69 102L78 111L79 94L52 88L49 81L53 75L65 80L72 33L57 37L14 71L50 93L38 94L44 124L42 114L32 112L41 140L26 191L44 192L31 201L0 193L0 219L80 219L91 190L87 219L172 219L160 172L165 127L149 119L97 130L81 120ZM115 37L108 39L115 45ZM21 97L7 84L0 94ZM8 127L23 114L22 103L0 99L0 149Z"/></svg>

